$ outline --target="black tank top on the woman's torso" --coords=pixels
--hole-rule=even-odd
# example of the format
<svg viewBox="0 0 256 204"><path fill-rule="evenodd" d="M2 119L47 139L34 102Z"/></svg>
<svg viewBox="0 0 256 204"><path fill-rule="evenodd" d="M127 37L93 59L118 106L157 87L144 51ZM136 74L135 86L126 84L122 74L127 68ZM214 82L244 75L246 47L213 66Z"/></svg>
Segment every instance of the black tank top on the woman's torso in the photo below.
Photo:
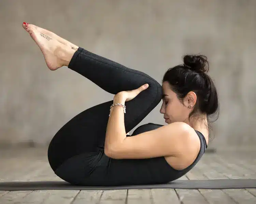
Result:
<svg viewBox="0 0 256 204"><path fill-rule="evenodd" d="M132 135L154 130L160 126L163 125L148 123L137 128ZM196 131L196 133L201 143L200 151L194 162L183 170L172 168L165 157L112 159L102 154L100 161L98 161L97 170L95 169L97 173L94 172L95 174L93 174L97 175L97 179L103 185L163 184L174 181L190 171L198 163L207 148L207 142L203 134L199 131Z"/></svg>

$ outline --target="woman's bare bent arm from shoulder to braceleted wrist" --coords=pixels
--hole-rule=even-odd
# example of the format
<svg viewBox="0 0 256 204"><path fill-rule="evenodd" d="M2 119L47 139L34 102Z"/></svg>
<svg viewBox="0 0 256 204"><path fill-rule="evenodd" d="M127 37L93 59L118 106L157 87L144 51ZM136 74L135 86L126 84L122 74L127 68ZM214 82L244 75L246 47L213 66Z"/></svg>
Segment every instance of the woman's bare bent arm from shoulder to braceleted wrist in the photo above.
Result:
<svg viewBox="0 0 256 204"><path fill-rule="evenodd" d="M114 97L114 103L125 104L122 95ZM162 126L156 130L126 137L124 109L114 106L106 129L105 154L115 159L152 158L176 156L189 151L191 127L182 122Z"/></svg>

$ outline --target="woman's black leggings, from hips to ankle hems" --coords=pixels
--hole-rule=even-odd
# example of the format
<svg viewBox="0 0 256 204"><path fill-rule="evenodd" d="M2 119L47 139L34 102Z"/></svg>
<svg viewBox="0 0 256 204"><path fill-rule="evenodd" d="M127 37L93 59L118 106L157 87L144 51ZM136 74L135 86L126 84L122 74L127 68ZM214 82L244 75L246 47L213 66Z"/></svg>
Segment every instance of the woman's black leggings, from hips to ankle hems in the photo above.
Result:
<svg viewBox="0 0 256 204"><path fill-rule="evenodd" d="M149 75L127 68L83 48L79 48L74 53L68 68L80 73L110 94L149 84L146 90L125 104L126 133L138 125L161 101L161 85ZM53 137L48 148L48 160L51 168L63 180L79 184L83 183L82 177L88 178L97 168L101 172L100 166L103 164L99 164L99 161L100 158L106 157L104 141L112 103L113 100L83 111L65 124ZM152 124L143 131L155 128L158 126ZM134 131L132 135L135 134L138 133ZM89 182L87 179L86 184L103 185L104 183ZM108 185L111 184L114 184L114 181L108 182Z"/></svg>

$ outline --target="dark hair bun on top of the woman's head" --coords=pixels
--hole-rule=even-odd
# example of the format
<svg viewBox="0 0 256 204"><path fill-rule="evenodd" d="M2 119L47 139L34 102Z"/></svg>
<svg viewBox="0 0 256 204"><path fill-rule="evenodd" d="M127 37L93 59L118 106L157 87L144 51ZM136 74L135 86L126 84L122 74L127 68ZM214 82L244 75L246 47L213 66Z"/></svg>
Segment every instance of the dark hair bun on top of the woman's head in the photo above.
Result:
<svg viewBox="0 0 256 204"><path fill-rule="evenodd" d="M208 72L209 63L204 55L185 55L183 57L184 67L196 72Z"/></svg>

